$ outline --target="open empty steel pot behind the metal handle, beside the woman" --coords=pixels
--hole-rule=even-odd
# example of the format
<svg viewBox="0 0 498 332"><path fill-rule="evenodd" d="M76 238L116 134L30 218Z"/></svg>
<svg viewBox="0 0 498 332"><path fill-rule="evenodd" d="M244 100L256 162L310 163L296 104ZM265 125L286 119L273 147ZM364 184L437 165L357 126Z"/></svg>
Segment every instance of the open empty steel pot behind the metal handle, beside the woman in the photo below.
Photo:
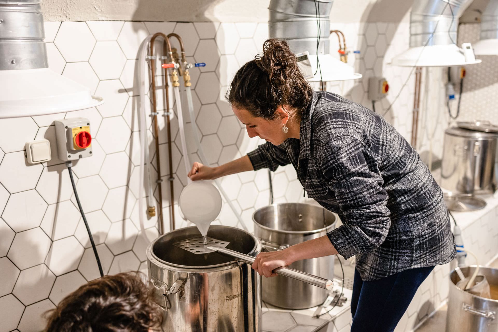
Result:
<svg viewBox="0 0 498 332"><path fill-rule="evenodd" d="M281 250L325 235L336 225L335 215L322 207L282 203L261 208L252 215L254 235L271 250ZM334 276L334 256L297 261L289 267L323 278ZM262 299L287 309L316 307L327 298L327 290L293 279L276 276L262 279ZM299 299L299 300L297 300Z"/></svg>

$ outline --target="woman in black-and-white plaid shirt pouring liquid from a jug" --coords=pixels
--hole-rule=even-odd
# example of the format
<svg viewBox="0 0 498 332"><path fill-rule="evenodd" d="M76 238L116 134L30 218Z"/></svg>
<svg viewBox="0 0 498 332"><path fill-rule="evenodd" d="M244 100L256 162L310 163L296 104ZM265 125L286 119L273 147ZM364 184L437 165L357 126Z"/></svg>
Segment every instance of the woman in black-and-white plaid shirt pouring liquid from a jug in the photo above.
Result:
<svg viewBox="0 0 498 332"><path fill-rule="evenodd" d="M356 255L351 331L393 331L435 265L455 256L441 189L417 152L380 115L328 92L314 92L285 41L235 75L227 100L249 137L266 140L248 155L208 167L192 180L292 163L308 197L343 225L252 264L260 275L297 260Z"/></svg>

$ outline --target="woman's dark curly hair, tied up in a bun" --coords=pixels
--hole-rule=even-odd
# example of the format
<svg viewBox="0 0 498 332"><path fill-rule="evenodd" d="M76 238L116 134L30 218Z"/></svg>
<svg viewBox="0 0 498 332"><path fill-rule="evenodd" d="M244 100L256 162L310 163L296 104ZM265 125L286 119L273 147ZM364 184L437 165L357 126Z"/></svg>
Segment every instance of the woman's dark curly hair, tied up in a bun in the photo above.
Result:
<svg viewBox="0 0 498 332"><path fill-rule="evenodd" d="M225 98L253 116L273 119L281 105L289 105L300 114L312 95L313 89L299 70L287 42L267 39L263 55L256 55L237 71Z"/></svg>

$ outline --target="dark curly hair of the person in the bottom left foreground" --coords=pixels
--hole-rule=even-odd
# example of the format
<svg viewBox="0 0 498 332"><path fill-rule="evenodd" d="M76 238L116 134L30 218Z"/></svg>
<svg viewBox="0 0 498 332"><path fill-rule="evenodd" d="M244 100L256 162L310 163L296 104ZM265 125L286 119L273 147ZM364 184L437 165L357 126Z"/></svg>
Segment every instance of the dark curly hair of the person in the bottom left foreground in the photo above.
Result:
<svg viewBox="0 0 498 332"><path fill-rule="evenodd" d="M47 312L45 332L147 332L162 311L139 276L120 273L90 281Z"/></svg>

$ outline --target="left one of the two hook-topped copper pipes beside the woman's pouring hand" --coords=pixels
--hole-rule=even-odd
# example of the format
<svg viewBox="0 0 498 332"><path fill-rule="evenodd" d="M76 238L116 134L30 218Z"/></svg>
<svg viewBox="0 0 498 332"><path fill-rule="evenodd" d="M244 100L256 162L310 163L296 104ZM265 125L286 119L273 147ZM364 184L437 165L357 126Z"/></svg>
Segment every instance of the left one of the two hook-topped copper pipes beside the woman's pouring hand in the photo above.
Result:
<svg viewBox="0 0 498 332"><path fill-rule="evenodd" d="M155 140L155 147L156 147L156 166L157 166L157 189L158 189L158 196L159 196L159 234L164 234L164 218L162 215L162 186L161 186L161 162L159 158L159 125L157 124L157 103L156 103L156 95L155 95L155 58L153 57L154 55L154 41L155 39L161 36L164 38L164 40L167 40L167 37L164 35L164 33L157 32L155 33L152 38L150 39L150 73L151 73L151 81L152 81L152 119L154 122L154 140ZM169 42L167 43L167 46L169 47L170 54L171 54L171 45ZM166 94L167 95L167 94ZM168 128L169 131L169 128ZM171 153L169 154L169 159L171 160ZM147 161L148 162L148 161Z"/></svg>

